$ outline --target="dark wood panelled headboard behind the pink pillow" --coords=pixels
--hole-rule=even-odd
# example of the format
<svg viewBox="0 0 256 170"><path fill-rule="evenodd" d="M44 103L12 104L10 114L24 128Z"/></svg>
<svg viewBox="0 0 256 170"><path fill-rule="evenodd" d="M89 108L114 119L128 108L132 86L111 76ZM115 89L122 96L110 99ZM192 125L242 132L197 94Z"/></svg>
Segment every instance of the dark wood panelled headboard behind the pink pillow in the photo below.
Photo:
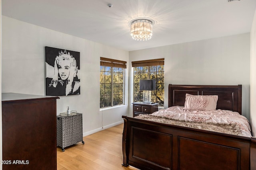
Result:
<svg viewBox="0 0 256 170"><path fill-rule="evenodd" d="M186 93L192 95L218 95L216 109L237 111L242 114L242 85L177 85L169 84L168 107L184 106Z"/></svg>

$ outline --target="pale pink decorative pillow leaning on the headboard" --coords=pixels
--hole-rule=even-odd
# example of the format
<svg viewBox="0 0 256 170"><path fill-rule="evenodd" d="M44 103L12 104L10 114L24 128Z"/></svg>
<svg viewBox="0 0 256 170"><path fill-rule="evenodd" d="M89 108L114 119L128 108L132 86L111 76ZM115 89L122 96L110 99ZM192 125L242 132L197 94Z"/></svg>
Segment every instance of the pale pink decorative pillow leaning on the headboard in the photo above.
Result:
<svg viewBox="0 0 256 170"><path fill-rule="evenodd" d="M186 94L186 101L184 109L187 110L216 110L218 101L217 95L205 96L205 95L192 95Z"/></svg>

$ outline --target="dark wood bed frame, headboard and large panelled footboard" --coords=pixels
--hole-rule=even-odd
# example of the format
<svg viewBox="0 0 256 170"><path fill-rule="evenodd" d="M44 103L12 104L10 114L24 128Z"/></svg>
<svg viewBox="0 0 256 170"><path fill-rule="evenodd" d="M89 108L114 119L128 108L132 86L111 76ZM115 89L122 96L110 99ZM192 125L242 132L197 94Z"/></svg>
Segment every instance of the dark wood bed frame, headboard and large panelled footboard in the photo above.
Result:
<svg viewBox="0 0 256 170"><path fill-rule="evenodd" d="M168 106L185 94L218 95L217 109L242 114L242 85L169 85ZM256 138L122 116L123 166L142 170L256 170Z"/></svg>

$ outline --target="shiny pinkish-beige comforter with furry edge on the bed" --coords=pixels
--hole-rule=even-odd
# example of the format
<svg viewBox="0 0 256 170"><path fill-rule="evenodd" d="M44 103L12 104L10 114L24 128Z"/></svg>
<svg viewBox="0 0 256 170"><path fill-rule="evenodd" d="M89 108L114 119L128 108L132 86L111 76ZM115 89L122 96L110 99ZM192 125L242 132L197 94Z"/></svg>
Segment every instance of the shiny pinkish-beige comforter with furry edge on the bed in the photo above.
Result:
<svg viewBox="0 0 256 170"><path fill-rule="evenodd" d="M248 119L229 110L190 111L182 106L173 106L136 118L231 135L252 136Z"/></svg>

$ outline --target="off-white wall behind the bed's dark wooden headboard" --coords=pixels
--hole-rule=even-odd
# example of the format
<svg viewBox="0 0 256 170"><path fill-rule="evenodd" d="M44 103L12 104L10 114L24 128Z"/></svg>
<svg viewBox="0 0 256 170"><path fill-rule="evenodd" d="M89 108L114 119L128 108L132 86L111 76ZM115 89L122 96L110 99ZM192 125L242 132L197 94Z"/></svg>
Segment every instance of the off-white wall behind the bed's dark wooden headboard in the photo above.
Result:
<svg viewBox="0 0 256 170"><path fill-rule="evenodd" d="M165 108L168 84L242 84L242 114L249 119L250 33L130 51L129 57L164 58Z"/></svg>

